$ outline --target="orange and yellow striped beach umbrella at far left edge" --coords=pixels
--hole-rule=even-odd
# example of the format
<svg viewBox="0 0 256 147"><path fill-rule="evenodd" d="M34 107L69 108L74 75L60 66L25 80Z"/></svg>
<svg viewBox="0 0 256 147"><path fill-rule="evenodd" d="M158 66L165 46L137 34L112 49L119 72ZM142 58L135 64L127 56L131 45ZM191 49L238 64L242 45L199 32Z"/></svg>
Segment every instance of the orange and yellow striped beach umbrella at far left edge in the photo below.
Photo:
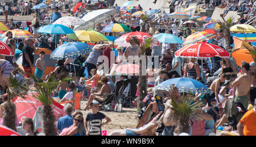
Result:
<svg viewBox="0 0 256 147"><path fill-rule="evenodd" d="M31 32L28 32L25 30L15 29L15 30L9 30L9 31L13 33L14 39L26 39L26 38L34 39L35 38L35 36ZM1 37L5 37L7 32L3 33Z"/></svg>

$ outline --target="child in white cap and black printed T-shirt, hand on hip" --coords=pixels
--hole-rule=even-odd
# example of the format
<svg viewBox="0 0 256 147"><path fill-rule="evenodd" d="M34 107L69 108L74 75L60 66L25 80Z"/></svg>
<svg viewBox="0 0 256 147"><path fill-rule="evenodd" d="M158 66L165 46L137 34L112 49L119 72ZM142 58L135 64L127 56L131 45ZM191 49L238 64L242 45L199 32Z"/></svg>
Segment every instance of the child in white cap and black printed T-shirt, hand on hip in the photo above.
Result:
<svg viewBox="0 0 256 147"><path fill-rule="evenodd" d="M99 108L99 102L97 100L93 100L92 103L90 103L90 108L92 108L92 112L89 112L86 115L84 128L86 131L86 136L101 136L101 127L105 124L108 124L111 119L102 114L101 112L98 112ZM102 119L106 119L105 123L102 123ZM89 130L88 130L88 122L89 122Z"/></svg>

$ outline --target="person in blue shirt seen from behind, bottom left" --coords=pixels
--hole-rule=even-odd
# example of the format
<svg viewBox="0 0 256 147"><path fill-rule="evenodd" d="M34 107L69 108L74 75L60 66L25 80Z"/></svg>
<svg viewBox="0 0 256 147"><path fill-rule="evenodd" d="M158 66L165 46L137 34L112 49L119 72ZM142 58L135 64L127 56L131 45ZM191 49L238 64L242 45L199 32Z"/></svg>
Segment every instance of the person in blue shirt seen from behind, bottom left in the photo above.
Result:
<svg viewBox="0 0 256 147"><path fill-rule="evenodd" d="M72 111L73 106L71 104L67 104L65 106L65 116L60 117L57 123L57 129L59 129L59 132L61 132L64 128L70 127L73 124L72 119Z"/></svg>

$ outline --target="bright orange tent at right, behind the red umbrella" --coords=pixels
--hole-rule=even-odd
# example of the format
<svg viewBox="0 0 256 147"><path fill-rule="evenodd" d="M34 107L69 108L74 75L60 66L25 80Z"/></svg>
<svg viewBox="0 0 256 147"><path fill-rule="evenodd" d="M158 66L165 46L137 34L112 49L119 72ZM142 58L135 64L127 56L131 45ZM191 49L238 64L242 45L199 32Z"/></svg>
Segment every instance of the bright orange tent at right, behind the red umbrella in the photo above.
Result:
<svg viewBox="0 0 256 147"><path fill-rule="evenodd" d="M241 67L241 62L245 60L247 63L253 62L253 55L250 54L250 51L245 48L236 49L232 52L232 56L237 62L237 65Z"/></svg>

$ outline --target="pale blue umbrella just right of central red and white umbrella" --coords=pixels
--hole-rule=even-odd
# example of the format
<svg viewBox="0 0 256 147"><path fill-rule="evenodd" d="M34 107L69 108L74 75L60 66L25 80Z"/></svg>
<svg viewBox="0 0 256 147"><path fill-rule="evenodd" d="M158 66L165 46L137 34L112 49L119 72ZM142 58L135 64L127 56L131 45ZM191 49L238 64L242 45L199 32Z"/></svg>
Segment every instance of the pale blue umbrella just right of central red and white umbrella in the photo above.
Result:
<svg viewBox="0 0 256 147"><path fill-rule="evenodd" d="M172 35L170 33L159 33L153 35L153 37L159 41L159 43L171 43L171 44L181 44L183 41L179 37Z"/></svg>

